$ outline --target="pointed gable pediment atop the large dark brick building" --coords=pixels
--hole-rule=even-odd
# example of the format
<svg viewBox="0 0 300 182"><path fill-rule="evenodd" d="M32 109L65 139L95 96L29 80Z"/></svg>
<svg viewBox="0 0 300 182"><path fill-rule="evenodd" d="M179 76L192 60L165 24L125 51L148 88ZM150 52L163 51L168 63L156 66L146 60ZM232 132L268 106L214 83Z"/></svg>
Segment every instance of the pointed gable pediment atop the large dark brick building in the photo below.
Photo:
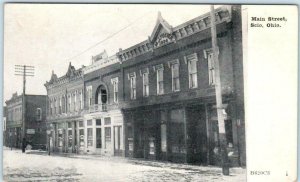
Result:
<svg viewBox="0 0 300 182"><path fill-rule="evenodd" d="M153 47L160 47L167 43L170 43L175 40L173 36L173 28L166 22L161 13L158 12L158 17L154 30L152 31L149 41L153 44Z"/></svg>

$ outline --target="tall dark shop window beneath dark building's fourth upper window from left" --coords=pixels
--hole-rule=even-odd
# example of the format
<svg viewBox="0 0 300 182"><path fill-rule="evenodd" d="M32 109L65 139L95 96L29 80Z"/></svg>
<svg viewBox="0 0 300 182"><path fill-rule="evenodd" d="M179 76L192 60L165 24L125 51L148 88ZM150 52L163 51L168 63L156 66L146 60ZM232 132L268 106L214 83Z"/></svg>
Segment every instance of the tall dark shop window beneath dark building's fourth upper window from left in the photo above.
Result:
<svg viewBox="0 0 300 182"><path fill-rule="evenodd" d="M171 110L170 143L172 153L186 153L184 110Z"/></svg>

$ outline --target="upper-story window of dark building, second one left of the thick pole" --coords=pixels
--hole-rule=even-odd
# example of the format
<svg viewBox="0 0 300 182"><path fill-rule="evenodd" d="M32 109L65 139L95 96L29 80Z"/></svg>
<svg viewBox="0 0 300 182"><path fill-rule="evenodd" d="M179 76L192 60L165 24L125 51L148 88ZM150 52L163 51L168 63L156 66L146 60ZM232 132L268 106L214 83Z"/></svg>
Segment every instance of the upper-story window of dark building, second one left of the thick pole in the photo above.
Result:
<svg viewBox="0 0 300 182"><path fill-rule="evenodd" d="M188 72L189 72L189 88L197 88L198 80L197 80L197 54L190 54L185 56L185 61L188 64Z"/></svg>

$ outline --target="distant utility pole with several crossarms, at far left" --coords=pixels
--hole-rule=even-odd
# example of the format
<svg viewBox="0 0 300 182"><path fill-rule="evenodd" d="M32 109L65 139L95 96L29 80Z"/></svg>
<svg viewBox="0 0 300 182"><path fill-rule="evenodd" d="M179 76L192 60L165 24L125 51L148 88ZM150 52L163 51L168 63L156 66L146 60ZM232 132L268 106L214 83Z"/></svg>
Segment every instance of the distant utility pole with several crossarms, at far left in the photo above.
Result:
<svg viewBox="0 0 300 182"><path fill-rule="evenodd" d="M23 76L23 95L22 95L22 139L26 137L26 77L34 76L34 66L15 65L15 75Z"/></svg>

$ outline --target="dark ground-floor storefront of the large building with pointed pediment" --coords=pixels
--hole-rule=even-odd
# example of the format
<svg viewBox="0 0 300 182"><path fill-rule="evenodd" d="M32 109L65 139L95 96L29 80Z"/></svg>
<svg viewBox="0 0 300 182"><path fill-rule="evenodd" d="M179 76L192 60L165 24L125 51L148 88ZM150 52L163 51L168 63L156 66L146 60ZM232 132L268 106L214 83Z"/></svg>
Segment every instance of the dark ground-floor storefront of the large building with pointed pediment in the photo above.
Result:
<svg viewBox="0 0 300 182"><path fill-rule="evenodd" d="M126 156L199 165L219 165L219 138L213 103L148 106L124 111ZM231 106L226 134L231 164L238 165L236 123Z"/></svg>

